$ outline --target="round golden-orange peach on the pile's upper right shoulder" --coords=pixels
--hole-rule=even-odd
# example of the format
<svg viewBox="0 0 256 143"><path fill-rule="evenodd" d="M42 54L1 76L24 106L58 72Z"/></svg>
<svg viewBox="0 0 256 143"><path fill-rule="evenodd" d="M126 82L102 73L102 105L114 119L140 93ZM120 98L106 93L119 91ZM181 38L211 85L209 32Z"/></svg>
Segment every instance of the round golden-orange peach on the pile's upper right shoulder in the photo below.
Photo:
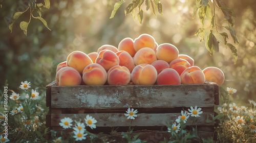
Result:
<svg viewBox="0 0 256 143"><path fill-rule="evenodd" d="M156 56L158 60L163 60L170 63L174 59L177 59L178 55L179 50L173 44L163 43L157 47Z"/></svg>

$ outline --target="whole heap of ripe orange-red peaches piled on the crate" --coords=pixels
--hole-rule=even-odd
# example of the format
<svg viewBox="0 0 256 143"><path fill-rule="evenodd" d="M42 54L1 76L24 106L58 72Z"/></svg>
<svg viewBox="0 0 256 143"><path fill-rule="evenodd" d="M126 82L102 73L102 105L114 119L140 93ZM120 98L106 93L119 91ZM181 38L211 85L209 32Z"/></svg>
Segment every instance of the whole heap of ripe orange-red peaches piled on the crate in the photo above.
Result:
<svg viewBox="0 0 256 143"><path fill-rule="evenodd" d="M118 48L102 45L97 52L72 52L57 66L56 83L66 85L177 85L224 82L217 67L201 70L194 59L170 43L157 44L148 34L124 38Z"/></svg>

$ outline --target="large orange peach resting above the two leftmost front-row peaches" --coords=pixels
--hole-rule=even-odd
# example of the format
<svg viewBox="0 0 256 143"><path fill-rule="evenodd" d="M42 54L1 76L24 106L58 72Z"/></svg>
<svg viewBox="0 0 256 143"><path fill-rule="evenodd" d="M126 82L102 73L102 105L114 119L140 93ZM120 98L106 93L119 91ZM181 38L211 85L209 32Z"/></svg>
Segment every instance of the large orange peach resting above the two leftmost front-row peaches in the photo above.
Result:
<svg viewBox="0 0 256 143"><path fill-rule="evenodd" d="M74 51L67 58L67 66L75 68L81 75L83 69L91 63L91 58L81 51Z"/></svg>

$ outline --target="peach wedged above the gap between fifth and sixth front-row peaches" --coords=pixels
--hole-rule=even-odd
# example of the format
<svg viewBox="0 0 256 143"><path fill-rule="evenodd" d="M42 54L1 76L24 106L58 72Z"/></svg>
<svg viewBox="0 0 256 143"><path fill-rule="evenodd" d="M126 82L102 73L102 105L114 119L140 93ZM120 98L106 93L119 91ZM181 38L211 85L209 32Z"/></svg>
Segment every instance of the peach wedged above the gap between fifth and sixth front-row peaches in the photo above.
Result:
<svg viewBox="0 0 256 143"><path fill-rule="evenodd" d="M187 68L190 67L190 63L184 59L175 59L169 64L170 68L175 69L179 75Z"/></svg>

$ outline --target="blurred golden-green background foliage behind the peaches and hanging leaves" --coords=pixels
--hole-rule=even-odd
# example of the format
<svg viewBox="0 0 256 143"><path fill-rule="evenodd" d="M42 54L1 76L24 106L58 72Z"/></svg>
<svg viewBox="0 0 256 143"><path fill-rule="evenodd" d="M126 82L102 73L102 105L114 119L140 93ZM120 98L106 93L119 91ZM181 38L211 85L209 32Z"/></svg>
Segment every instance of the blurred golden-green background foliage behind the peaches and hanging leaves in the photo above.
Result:
<svg viewBox="0 0 256 143"><path fill-rule="evenodd" d="M27 36L19 27L20 21L29 20L29 12L21 15L14 23L12 33L6 19L17 11L24 11L25 1L3 1L0 8L0 85L3 89L8 80L9 89L17 92L21 81L30 81L33 86L45 88L55 80L56 66L65 61L73 51L86 54L97 52L103 44L118 43L125 37L137 38L143 33L152 35L158 44L172 43L180 54L194 58L195 65L204 69L216 66L225 74L222 88L237 89L234 99L248 103L256 100L256 9L254 0L223 1L237 15L235 29L239 45L233 44L229 35L228 42L237 47L238 59L234 64L229 48L220 43L219 53L210 56L205 42L194 34L202 26L198 14L193 18L193 6L196 0L161 1L163 15L154 16L152 9L146 11L142 6L144 19L142 24L134 20L131 14L125 16L124 9L131 2L126 1L110 19L117 1L51 1L51 7L42 13L47 21L48 30L40 20L31 19ZM209 2L212 6L212 3ZM213 12L213 11L212 11ZM216 10L218 25L227 25L224 15ZM36 15L37 13L34 13ZM37 16L37 15L36 15ZM225 30L223 30L225 31ZM229 34L228 31L225 31ZM207 34L206 34L207 35ZM206 39L206 37L205 37ZM217 37L222 39L222 37ZM1 90L2 90L1 89Z"/></svg>

